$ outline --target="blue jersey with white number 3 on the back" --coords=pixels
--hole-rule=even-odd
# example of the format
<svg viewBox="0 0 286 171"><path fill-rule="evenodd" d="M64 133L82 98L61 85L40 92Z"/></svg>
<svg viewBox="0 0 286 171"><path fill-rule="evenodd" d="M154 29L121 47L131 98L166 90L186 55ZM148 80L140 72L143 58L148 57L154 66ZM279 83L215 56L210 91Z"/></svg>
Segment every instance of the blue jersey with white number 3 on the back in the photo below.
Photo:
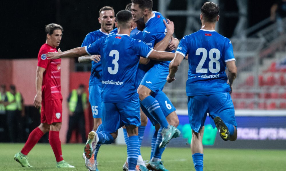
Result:
<svg viewBox="0 0 286 171"><path fill-rule="evenodd" d="M114 34L86 46L86 52L101 55L103 102L138 98L135 77L139 59L140 56L148 58L152 49L127 34Z"/></svg>

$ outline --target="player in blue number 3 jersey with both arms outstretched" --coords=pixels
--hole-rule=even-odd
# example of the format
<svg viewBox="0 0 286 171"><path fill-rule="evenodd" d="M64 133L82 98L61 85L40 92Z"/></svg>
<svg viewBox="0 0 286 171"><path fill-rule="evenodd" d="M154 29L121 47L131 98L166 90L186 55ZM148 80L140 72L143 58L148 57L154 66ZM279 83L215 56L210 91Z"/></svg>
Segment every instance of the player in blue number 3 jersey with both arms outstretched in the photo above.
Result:
<svg viewBox="0 0 286 171"><path fill-rule="evenodd" d="M103 131L94 133L93 142L110 144L117 137L117 130L125 125L128 133L127 156L129 171L135 171L138 159L140 125L139 98L135 76L140 56L153 60L172 60L173 53L150 49L140 40L130 38L133 27L132 14L128 10L116 15L118 34L101 38L89 46L66 52L49 52L47 57L79 57L101 54L102 60L102 125Z"/></svg>

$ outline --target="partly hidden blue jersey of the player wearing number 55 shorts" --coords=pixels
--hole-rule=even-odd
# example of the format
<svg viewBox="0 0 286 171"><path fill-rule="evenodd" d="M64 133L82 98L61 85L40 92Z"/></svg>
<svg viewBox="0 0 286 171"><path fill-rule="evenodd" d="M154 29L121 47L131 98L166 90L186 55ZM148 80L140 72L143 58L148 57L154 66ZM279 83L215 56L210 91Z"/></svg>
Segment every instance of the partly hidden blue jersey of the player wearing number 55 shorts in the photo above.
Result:
<svg viewBox="0 0 286 171"><path fill-rule="evenodd" d="M88 46L95 42L96 40L102 38L102 37L107 37L108 34L105 32L102 32L101 29L96 30L94 32L90 32L86 35L84 38L84 42L82 42L82 47ZM101 62L94 62L92 61L92 68L91 68L91 73L90 73L90 80L89 80L89 86L93 85L101 85L102 81L102 67L101 67Z"/></svg>

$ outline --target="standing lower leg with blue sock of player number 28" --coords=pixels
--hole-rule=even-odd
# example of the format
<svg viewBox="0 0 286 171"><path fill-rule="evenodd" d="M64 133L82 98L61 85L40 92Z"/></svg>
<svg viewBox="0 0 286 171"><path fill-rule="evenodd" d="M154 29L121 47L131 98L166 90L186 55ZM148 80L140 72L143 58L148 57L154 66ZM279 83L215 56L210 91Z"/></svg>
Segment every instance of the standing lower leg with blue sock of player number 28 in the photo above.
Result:
<svg viewBox="0 0 286 171"><path fill-rule="evenodd" d="M200 129L200 132L198 133L192 130L191 151L196 171L202 171L203 169L203 146L202 146L203 136L204 136L204 126Z"/></svg>

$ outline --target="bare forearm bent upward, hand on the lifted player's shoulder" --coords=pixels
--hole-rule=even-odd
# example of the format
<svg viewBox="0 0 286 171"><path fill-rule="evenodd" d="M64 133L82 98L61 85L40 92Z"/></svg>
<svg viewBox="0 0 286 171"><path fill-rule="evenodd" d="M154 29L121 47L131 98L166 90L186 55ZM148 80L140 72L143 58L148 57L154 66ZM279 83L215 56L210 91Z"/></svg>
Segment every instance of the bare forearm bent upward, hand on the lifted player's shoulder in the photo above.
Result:
<svg viewBox="0 0 286 171"><path fill-rule="evenodd" d="M171 40L172 35L174 33L174 23L172 21L170 21L169 19L166 19L166 20L168 21L168 23L165 20L163 20L163 22L166 26L167 33L166 33L165 37L163 38L163 40L156 43L156 45L154 46L154 50L165 51L166 48L168 47L168 44L170 43L170 40Z"/></svg>

